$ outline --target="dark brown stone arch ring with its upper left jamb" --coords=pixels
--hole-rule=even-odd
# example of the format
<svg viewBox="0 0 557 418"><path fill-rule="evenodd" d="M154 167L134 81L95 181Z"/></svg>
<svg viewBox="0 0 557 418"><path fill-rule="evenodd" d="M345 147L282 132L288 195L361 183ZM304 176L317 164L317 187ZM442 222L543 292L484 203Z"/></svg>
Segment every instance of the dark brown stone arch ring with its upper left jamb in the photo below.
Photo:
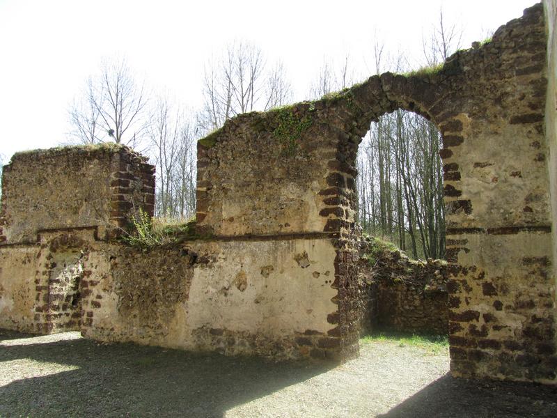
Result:
<svg viewBox="0 0 557 418"><path fill-rule="evenodd" d="M336 123L331 123L343 134L336 135L337 152L329 161L327 189L320 193L327 206L322 211L322 215L328 218L324 232L352 235L356 231L356 153L370 123L384 114L403 109L432 121L442 134L462 130L462 123L455 119L456 115L444 110L446 98L446 86L432 81L427 75L405 76L391 72L374 75L343 93L342 100L335 106ZM456 136L450 137L450 141L458 141ZM452 155L448 149L450 145L452 143L444 146L441 157ZM457 175L451 173L448 177Z"/></svg>

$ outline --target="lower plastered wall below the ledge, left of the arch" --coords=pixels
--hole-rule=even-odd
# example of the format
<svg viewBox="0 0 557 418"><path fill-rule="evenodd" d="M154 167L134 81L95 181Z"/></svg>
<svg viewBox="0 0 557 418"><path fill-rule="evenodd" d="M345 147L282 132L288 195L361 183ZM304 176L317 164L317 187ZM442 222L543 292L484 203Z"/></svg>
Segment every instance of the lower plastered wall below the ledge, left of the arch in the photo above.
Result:
<svg viewBox="0 0 557 418"><path fill-rule="evenodd" d="M338 357L328 238L198 240L139 249L95 231L0 246L0 327L98 341Z"/></svg>

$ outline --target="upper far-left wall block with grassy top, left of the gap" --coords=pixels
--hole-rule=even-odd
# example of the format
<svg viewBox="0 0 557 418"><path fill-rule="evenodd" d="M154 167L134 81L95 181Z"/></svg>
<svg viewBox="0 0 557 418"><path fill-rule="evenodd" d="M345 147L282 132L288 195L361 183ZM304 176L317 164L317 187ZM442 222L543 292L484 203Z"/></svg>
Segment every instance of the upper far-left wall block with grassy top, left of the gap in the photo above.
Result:
<svg viewBox="0 0 557 418"><path fill-rule="evenodd" d="M37 242L41 231L96 228L107 239L134 208L152 215L154 168L113 144L16 153L3 169L0 245Z"/></svg>

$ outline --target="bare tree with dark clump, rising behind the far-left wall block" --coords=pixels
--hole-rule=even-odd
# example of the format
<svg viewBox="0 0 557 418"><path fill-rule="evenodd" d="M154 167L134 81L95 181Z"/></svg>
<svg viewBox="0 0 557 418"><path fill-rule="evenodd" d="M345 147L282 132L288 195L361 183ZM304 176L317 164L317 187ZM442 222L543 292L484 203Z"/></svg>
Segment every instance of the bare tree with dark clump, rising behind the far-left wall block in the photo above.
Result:
<svg viewBox="0 0 557 418"><path fill-rule="evenodd" d="M135 82L126 61L104 61L100 75L89 77L68 111L72 142L138 146L146 130L146 104L144 87Z"/></svg>

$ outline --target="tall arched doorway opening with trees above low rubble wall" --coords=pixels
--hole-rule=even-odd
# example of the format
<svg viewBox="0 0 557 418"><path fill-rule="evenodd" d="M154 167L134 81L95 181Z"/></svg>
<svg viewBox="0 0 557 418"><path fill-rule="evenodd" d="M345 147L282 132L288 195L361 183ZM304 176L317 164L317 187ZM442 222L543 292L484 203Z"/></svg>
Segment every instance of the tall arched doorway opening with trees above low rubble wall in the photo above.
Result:
<svg viewBox="0 0 557 418"><path fill-rule="evenodd" d="M356 157L358 221L368 270L364 327L448 345L441 133L398 109L370 124Z"/></svg>

